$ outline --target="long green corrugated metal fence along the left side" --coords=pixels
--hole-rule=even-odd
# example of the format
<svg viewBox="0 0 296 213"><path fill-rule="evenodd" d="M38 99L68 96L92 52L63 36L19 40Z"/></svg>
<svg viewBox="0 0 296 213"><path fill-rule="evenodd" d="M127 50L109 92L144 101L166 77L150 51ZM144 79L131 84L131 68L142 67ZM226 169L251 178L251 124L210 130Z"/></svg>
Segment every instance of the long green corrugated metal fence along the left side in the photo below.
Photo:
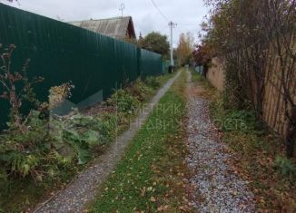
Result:
<svg viewBox="0 0 296 213"><path fill-rule="evenodd" d="M77 104L99 91L107 98L116 85L127 80L163 73L160 54L3 4L0 44L16 45L15 72L31 59L28 76L44 77L35 88L42 101L47 100L50 87L63 82L75 85L71 102ZM0 100L0 130L5 127L8 109L8 103Z"/></svg>

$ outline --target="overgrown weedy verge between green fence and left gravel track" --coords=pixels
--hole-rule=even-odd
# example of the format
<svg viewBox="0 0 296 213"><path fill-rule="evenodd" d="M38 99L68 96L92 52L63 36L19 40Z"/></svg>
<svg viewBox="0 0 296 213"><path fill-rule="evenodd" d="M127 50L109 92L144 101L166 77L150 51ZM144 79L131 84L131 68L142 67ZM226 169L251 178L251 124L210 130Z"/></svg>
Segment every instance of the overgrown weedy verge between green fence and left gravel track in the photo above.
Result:
<svg viewBox="0 0 296 213"><path fill-rule="evenodd" d="M0 162L5 163L7 169L14 169L13 164L8 164L9 160L15 160L15 163L19 165L15 168L19 169L17 171L19 174L16 175L12 172L7 173L5 168L0 168L0 212L30 210L54 191L63 189L78 172L86 168L94 158L108 148L116 133L126 130L129 121L136 116L141 104L147 102L172 76L168 74L150 77L145 81L131 83L128 88L116 92L106 102L106 105L111 108L109 112L89 116L76 112L63 120L63 128L61 121L54 121L54 135L46 134L48 125L46 121L42 121L41 125L38 116L35 116L34 120L30 119L34 123L30 124L30 131L25 131L25 135L16 135L10 131L0 135L0 139L5 140L9 137L11 141L8 147L8 144L0 140ZM118 111L114 113L116 105ZM44 132L42 137L39 131ZM58 142L53 142L53 140ZM32 145L25 147L24 151L19 151L15 149L15 142ZM63 153L57 155L56 150L60 151L61 147L55 149L53 144L54 146L63 145L63 147L65 144L70 145L65 149L67 156L64 157ZM14 156L22 157L22 159L18 160L14 156L7 159L8 151L5 150L8 148L14 151ZM62 152L63 150L64 148ZM11 151L9 150L9 153ZM68 156L69 151L71 158Z"/></svg>

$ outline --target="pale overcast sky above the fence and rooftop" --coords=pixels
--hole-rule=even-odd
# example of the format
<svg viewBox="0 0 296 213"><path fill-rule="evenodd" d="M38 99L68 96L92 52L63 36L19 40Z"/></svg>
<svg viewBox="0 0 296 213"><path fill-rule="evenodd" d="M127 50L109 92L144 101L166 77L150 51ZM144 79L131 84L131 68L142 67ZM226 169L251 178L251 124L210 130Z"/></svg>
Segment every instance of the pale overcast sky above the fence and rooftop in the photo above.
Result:
<svg viewBox="0 0 296 213"><path fill-rule="evenodd" d="M17 8L44 15L64 22L101 19L120 16L120 5L124 4L123 15L131 15L137 36L152 31L169 35L168 19L178 24L174 29L173 45L179 34L191 32L197 37L204 15L208 9L203 0L154 0L163 15L154 7L152 0L18 0L19 3L5 3Z"/></svg>

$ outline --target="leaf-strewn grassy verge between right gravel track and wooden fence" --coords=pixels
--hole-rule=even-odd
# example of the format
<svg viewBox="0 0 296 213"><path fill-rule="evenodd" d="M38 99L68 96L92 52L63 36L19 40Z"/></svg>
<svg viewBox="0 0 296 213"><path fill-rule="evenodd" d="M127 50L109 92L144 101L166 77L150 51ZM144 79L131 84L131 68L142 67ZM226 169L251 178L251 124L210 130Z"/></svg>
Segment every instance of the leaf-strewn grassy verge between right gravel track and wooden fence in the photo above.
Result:
<svg viewBox="0 0 296 213"><path fill-rule="evenodd" d="M296 212L295 162L283 157L281 139L268 129L258 130L254 111L225 109L222 93L209 86L203 77L194 80L205 89L212 121L236 156L232 168L249 181L257 208L268 212Z"/></svg>

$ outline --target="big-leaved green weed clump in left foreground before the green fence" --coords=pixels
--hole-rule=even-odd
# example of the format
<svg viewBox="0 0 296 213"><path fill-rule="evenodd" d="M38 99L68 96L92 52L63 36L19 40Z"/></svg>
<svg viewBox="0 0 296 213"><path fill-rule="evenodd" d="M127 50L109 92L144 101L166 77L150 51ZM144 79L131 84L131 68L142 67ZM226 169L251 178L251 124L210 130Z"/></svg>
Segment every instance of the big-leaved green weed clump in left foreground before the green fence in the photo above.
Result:
<svg viewBox="0 0 296 213"><path fill-rule="evenodd" d="M24 123L25 131L9 130L0 135L1 180L29 175L36 181L46 175L54 178L59 169L86 163L95 146L112 138L113 121L78 112L50 122L39 116L39 111L31 111Z"/></svg>

